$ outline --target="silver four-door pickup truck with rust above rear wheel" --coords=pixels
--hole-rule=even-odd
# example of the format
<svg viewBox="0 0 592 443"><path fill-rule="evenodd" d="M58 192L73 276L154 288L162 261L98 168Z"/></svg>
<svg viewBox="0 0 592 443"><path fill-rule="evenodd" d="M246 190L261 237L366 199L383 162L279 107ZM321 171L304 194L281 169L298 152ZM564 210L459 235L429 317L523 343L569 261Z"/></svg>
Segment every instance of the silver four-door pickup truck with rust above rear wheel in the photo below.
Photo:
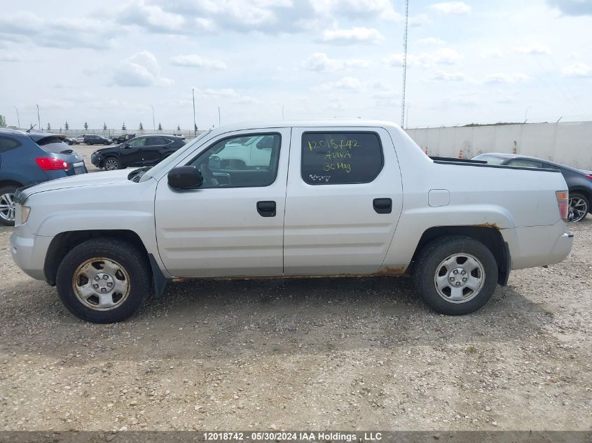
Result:
<svg viewBox="0 0 592 443"><path fill-rule="evenodd" d="M22 188L11 252L76 316L122 321L178 279L414 277L443 314L572 248L559 171L430 158L396 125L213 129L150 169Z"/></svg>

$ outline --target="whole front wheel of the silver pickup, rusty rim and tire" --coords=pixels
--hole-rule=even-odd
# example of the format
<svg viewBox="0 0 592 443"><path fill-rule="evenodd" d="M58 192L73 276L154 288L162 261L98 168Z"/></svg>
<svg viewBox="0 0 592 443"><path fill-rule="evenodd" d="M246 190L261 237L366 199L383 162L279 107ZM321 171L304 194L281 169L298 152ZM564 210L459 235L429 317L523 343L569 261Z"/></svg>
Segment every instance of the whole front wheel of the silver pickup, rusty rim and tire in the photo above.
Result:
<svg viewBox="0 0 592 443"><path fill-rule="evenodd" d="M151 293L148 260L120 239L91 239L73 248L57 269L57 293L67 309L92 323L134 314Z"/></svg>

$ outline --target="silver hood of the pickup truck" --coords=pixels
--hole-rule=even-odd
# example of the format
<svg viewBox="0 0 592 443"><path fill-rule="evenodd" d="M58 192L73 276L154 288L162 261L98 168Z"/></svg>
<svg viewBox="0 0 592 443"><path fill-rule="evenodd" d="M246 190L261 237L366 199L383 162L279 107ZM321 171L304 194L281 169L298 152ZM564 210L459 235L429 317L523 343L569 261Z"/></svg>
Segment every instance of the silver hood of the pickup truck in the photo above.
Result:
<svg viewBox="0 0 592 443"><path fill-rule="evenodd" d="M94 174L78 174L76 176L57 178L56 180L39 183L39 185L20 188L20 190L18 190L15 194L15 199L22 203L25 202L25 199L27 199L29 195L36 194L37 192L67 188L83 188L85 186L133 183L132 181L128 180L129 174L129 169L120 169L116 171L95 172Z"/></svg>

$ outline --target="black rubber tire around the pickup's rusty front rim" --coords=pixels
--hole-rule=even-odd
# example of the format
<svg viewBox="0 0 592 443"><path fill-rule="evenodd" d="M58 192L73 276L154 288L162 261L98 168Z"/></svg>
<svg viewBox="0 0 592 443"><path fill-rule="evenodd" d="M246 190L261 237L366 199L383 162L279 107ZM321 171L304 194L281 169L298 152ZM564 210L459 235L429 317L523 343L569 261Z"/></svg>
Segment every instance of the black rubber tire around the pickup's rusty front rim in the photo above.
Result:
<svg viewBox="0 0 592 443"><path fill-rule="evenodd" d="M89 307L91 303L83 303L74 289L76 270L94 258L97 258L97 262L105 259L116 262L129 276L128 295L121 297L120 304L108 310L102 310L98 306ZM116 323L132 316L142 306L146 297L151 295L150 264L146 256L127 241L113 238L91 239L66 254L57 268L55 286L64 306L78 318L92 323ZM115 301L115 290L112 292L111 300ZM87 301L92 302L91 297L88 297Z"/></svg>

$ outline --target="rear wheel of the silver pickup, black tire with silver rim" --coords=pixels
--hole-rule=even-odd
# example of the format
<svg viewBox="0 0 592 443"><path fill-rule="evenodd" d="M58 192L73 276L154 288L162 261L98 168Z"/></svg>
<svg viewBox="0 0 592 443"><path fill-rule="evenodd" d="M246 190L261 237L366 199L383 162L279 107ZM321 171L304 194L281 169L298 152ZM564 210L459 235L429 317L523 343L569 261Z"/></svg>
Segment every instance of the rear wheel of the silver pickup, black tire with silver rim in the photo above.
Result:
<svg viewBox="0 0 592 443"><path fill-rule="evenodd" d="M457 259L453 258L455 255L458 255ZM459 280L449 283L452 281L450 279L459 279L460 277L464 278L463 281L467 281L467 278L461 274L453 273L455 269L460 270L464 267L463 256L465 258L472 256L471 258L481 265L481 267L469 271L470 275L464 274L469 279L474 276L475 282L481 281L477 290L472 290L469 288L469 283L462 283ZM448 259L453 260L454 264L444 265L443 262ZM469 262L466 267L469 267ZM426 304L435 311L450 316L462 316L476 311L488 302L497 286L497 272L495 257L489 248L480 241L469 237L444 237L432 241L420 251L414 272L415 288ZM448 285L448 288L444 287L441 290L436 288L436 277L438 276L439 279L446 277L441 281ZM457 282L460 288L453 288ZM466 300L453 301L453 296L456 296L456 293L452 293L453 290L460 290L460 297L466 297ZM465 291L467 295L464 294Z"/></svg>

